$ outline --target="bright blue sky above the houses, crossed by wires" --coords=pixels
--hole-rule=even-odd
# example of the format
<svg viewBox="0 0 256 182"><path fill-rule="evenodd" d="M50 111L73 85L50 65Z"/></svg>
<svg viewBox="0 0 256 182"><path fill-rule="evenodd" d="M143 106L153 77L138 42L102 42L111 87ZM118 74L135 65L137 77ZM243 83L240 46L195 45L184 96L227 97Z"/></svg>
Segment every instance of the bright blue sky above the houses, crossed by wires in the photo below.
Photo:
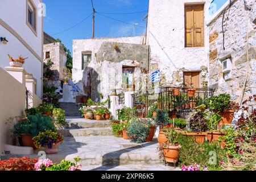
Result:
<svg viewBox="0 0 256 182"><path fill-rule="evenodd" d="M71 52L73 39L92 38L91 0L43 0L43 3L46 5L44 31L55 39L59 38ZM143 18L147 14L148 0L93 0L93 6L96 10L95 38L132 36L131 24L134 23L141 26L135 27L135 36L145 34L146 20Z"/></svg>

